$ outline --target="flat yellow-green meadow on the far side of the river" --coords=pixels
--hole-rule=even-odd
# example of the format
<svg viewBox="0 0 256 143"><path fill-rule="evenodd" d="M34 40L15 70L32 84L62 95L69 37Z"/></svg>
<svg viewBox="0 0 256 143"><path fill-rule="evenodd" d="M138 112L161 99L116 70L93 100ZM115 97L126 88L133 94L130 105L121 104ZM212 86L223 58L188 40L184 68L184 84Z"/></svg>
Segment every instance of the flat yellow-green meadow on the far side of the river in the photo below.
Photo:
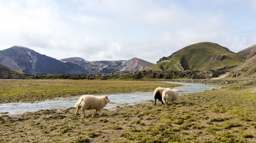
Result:
<svg viewBox="0 0 256 143"><path fill-rule="evenodd" d="M56 97L83 94L102 95L116 93L153 92L156 87L175 87L177 84L159 81L125 80L0 80L0 103L30 102Z"/></svg>

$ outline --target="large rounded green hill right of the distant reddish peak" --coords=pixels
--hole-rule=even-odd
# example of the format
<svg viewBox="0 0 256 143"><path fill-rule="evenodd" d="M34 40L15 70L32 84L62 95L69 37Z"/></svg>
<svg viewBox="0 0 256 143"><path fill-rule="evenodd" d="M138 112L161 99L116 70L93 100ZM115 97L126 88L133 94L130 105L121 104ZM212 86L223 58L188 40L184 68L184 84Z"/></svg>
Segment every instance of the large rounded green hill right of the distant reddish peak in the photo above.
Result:
<svg viewBox="0 0 256 143"><path fill-rule="evenodd" d="M164 60L164 61L162 61ZM153 71L217 70L241 65L245 58L216 43L201 42L186 46L159 63L146 67Z"/></svg>

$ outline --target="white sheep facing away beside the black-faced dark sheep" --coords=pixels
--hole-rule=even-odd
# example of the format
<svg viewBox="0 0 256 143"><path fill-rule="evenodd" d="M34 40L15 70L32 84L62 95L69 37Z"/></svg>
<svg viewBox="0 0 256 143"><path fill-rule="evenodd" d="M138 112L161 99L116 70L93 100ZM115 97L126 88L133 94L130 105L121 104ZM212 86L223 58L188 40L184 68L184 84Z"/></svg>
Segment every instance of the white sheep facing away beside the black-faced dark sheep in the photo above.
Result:
<svg viewBox="0 0 256 143"><path fill-rule="evenodd" d="M162 93L162 101L165 105L168 105L168 102L174 103L175 100L179 98L179 90L170 90L166 89Z"/></svg>

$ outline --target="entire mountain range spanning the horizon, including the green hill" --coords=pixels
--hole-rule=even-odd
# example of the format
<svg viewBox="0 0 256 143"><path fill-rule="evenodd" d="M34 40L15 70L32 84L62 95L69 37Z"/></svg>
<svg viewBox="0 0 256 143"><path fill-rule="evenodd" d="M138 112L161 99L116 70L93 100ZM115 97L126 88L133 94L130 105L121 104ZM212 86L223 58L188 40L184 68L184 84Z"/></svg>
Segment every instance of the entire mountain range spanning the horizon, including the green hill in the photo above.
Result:
<svg viewBox="0 0 256 143"><path fill-rule="evenodd" d="M254 64L256 59L253 54L255 50L256 45L253 45L234 53L219 44L201 42L188 45L169 56L163 56L157 64L152 64L138 58L92 62L79 57L57 60L26 47L13 46L0 51L0 65L3 65L0 68L0 78L15 78L17 74L24 73L28 76L28 74L88 74L140 70L232 70L230 73L233 74L230 74L230 77L252 76L256 71ZM245 72L246 74L243 74ZM19 78L24 78L24 75Z"/></svg>

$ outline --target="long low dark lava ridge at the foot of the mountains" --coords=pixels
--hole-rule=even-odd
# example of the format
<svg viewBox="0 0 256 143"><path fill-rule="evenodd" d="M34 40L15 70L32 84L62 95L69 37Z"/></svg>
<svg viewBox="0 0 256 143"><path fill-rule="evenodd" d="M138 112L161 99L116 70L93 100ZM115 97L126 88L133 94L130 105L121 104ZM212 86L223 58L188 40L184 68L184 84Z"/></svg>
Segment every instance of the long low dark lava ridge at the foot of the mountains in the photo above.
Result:
<svg viewBox="0 0 256 143"><path fill-rule="evenodd" d="M28 79L209 79L218 77L225 71L208 70L208 71L136 71L136 72L118 72L102 74L57 74L57 75L34 75Z"/></svg>

